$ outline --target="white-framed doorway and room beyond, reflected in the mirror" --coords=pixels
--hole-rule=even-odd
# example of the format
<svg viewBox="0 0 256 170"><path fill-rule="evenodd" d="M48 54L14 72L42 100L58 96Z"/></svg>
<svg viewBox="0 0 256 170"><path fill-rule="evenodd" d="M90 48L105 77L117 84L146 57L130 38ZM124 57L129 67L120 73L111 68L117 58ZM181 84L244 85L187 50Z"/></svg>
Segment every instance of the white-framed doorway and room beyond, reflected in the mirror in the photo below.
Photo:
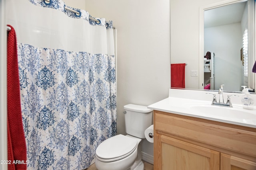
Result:
<svg viewBox="0 0 256 170"><path fill-rule="evenodd" d="M226 1L202 7L200 13L199 88L255 89L255 1Z"/></svg>

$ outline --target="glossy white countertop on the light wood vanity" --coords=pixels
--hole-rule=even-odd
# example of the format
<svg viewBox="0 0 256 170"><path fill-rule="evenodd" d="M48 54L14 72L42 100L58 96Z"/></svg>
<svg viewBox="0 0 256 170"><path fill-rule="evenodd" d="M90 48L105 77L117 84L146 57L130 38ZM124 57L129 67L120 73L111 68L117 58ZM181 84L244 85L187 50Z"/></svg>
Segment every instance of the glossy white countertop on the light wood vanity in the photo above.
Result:
<svg viewBox="0 0 256 170"><path fill-rule="evenodd" d="M210 100L198 100L200 98L200 95L206 95L206 92L199 92L197 93L196 99L191 98L190 93L194 92L186 92L186 95L181 94L181 91L177 93L177 91L173 91L173 89L169 90L169 97L161 100L159 102L156 102L154 104L151 104L148 106L149 109L154 109L158 111L164 111L168 113L175 113L179 115L186 115L190 117L198 117L202 119L208 119L213 121L219 121L224 123L231 123L235 125L242 125L246 127L253 127L256 128L256 107L254 104L253 110L243 109L241 104L238 104L238 100L236 100L235 103L233 103L233 108L228 107L220 107L220 106L211 106L211 99L212 95L210 95ZM194 90L196 91L196 90ZM171 93L171 94L170 94ZM183 92L182 92L183 93ZM172 95L173 94L173 95ZM177 94L180 94L177 97ZM193 94L194 95L194 94ZM193 96L192 95L192 96ZM240 94L242 95L242 94ZM174 96L174 97L172 97ZM189 96L189 97L184 97ZM255 96L253 96L255 97ZM207 97L208 98L208 97ZM226 100L226 98L224 98ZM197 111L196 109L191 109L190 106L196 105L196 106L206 106L207 108L209 106L209 109L215 107L220 107L220 109L224 109L223 113L209 113L208 111ZM227 110L228 109L228 110ZM230 112L231 111L231 112ZM232 114L232 111L236 111L236 114ZM230 112L230 113L228 113ZM240 115L241 114L241 115ZM238 115L238 116L236 116Z"/></svg>

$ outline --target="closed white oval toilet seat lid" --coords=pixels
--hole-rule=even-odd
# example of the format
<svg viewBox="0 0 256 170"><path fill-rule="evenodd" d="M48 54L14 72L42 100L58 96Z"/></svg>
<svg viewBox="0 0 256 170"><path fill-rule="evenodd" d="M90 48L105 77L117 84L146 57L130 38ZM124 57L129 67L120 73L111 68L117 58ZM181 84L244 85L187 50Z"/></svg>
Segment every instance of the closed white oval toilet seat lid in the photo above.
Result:
<svg viewBox="0 0 256 170"><path fill-rule="evenodd" d="M124 135L116 135L103 141L96 149L96 157L102 162L123 159L137 149L138 142Z"/></svg>

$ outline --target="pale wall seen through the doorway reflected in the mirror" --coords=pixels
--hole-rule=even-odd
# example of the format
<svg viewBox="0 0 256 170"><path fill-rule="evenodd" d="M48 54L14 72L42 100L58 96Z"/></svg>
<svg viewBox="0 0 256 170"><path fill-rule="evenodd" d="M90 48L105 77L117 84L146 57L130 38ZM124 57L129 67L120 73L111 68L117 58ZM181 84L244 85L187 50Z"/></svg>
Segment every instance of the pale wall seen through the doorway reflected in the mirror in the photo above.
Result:
<svg viewBox="0 0 256 170"><path fill-rule="evenodd" d="M241 23L204 29L204 54L215 54L215 87L224 84L224 90L241 91L243 66L240 60L242 47ZM239 69L238 69L239 68Z"/></svg>

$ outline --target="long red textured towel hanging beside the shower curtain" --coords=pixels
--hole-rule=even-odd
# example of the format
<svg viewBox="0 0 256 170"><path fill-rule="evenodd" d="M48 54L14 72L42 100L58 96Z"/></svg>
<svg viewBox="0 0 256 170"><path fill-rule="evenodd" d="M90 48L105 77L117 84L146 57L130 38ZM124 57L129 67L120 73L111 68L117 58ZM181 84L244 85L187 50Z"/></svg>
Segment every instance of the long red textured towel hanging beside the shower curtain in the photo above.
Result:
<svg viewBox="0 0 256 170"><path fill-rule="evenodd" d="M16 33L11 25L7 37L7 135L8 170L26 170L26 141L20 106L20 79Z"/></svg>

